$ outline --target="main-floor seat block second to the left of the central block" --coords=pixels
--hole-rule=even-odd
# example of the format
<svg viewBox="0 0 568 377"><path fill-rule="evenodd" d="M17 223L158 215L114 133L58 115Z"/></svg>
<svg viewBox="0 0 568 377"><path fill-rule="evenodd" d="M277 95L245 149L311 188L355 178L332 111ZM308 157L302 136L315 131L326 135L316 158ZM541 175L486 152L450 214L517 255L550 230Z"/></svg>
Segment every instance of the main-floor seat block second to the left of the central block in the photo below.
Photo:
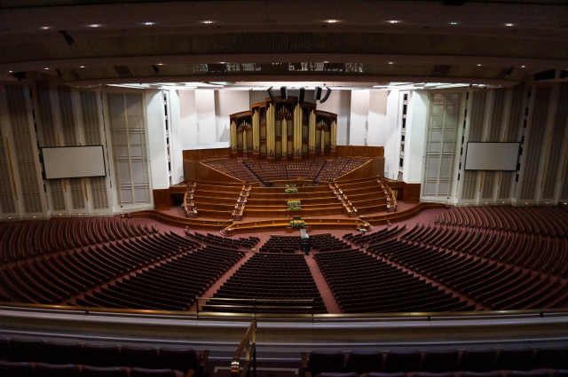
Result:
<svg viewBox="0 0 568 377"><path fill-rule="evenodd" d="M8 301L61 303L195 246L172 233L154 233L39 255L27 263L6 264L0 287L9 294Z"/></svg>

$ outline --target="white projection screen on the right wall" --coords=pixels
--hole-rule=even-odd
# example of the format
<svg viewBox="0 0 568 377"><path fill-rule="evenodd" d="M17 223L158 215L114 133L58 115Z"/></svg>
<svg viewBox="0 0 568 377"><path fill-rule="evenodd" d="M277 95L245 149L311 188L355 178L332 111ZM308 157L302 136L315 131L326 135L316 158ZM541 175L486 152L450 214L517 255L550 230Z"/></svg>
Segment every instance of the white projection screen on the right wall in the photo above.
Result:
<svg viewBox="0 0 568 377"><path fill-rule="evenodd" d="M520 143L468 143L466 170L517 170Z"/></svg>

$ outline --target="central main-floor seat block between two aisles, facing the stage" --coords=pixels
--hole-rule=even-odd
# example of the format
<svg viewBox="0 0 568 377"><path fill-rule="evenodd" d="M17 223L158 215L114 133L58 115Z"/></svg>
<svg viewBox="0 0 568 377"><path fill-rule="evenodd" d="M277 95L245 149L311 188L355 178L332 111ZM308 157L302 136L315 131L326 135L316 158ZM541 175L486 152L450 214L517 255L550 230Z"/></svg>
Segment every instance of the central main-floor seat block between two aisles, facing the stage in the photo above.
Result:
<svg viewBox="0 0 568 377"><path fill-rule="evenodd" d="M326 312L326 307L321 295L319 295L318 287L313 281L310 268L305 262L304 255L300 254L260 253L253 255L225 282L223 287L217 290L214 297L241 300L228 302L209 300L204 310L280 313ZM271 302L254 302L251 299L271 300ZM310 299L313 301L293 301ZM236 306L224 308L223 305Z"/></svg>

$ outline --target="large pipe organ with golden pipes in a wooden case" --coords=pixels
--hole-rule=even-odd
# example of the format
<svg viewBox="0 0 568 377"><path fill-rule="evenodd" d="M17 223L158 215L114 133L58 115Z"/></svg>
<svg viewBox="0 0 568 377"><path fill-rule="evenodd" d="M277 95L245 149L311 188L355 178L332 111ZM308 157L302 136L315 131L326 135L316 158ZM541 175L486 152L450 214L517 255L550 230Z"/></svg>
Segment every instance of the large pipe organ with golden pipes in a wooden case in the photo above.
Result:
<svg viewBox="0 0 568 377"><path fill-rule="evenodd" d="M230 115L231 155L267 159L335 156L337 114L297 97L265 98Z"/></svg>

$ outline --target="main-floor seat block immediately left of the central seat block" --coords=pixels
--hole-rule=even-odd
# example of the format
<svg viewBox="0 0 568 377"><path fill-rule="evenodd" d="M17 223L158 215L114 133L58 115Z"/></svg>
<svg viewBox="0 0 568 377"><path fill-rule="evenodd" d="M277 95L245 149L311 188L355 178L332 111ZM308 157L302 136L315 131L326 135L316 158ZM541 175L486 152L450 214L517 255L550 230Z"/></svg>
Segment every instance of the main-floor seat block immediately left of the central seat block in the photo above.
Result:
<svg viewBox="0 0 568 377"><path fill-rule="evenodd" d="M187 310L244 255L233 249L203 247L131 273L76 302L82 306Z"/></svg>

